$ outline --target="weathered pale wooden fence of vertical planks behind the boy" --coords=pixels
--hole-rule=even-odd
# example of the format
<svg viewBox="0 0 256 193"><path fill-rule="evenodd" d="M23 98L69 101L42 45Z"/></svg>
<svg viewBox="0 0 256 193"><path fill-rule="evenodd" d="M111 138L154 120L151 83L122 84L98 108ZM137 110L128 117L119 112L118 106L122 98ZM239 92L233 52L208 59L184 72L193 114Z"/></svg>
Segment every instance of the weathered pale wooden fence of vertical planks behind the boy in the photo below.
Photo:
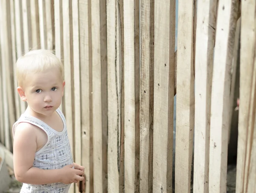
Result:
<svg viewBox="0 0 256 193"><path fill-rule="evenodd" d="M86 193L189 193L192 165L194 192L226 192L241 23L236 191L254 192L255 9L242 0L237 22L239 0L0 0L0 142L12 151L26 109L17 58L54 49Z"/></svg>

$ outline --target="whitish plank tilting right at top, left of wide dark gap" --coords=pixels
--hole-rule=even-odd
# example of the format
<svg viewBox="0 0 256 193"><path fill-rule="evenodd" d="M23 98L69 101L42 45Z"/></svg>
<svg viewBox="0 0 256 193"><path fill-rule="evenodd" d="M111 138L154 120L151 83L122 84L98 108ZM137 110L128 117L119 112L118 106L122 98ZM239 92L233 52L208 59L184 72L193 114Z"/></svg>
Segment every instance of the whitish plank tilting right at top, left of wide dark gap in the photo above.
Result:
<svg viewBox="0 0 256 193"><path fill-rule="evenodd" d="M209 192L226 192L229 100L238 0L219 0L212 76ZM222 19L225 18L225 19Z"/></svg>

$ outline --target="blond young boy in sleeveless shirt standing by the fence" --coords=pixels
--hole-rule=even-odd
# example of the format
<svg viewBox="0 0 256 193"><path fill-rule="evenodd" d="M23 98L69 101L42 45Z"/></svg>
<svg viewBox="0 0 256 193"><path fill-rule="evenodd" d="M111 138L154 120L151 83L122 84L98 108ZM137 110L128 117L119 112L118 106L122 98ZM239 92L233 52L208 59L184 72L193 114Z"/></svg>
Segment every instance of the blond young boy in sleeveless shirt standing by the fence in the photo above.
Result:
<svg viewBox="0 0 256 193"><path fill-rule="evenodd" d="M13 125L15 177L21 193L67 193L84 180L84 167L73 163L66 120L59 106L64 69L48 50L34 50L16 63L17 91L26 111Z"/></svg>

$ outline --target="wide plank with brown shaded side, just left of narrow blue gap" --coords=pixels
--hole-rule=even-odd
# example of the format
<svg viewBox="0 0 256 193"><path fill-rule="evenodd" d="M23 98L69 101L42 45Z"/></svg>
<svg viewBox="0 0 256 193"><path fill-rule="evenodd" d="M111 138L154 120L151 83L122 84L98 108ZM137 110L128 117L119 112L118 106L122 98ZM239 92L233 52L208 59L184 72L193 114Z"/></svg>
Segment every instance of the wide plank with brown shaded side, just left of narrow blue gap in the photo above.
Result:
<svg viewBox="0 0 256 193"><path fill-rule="evenodd" d="M174 77L175 0L155 0L153 192L172 192Z"/></svg>

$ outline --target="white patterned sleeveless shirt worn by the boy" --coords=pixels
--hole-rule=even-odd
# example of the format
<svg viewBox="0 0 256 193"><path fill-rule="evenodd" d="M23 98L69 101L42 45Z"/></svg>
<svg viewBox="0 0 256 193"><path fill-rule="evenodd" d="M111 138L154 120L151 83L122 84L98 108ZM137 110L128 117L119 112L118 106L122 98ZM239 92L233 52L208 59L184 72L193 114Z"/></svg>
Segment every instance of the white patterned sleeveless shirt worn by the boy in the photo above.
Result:
<svg viewBox="0 0 256 193"><path fill-rule="evenodd" d="M35 153L33 163L34 167L44 170L52 170L73 164L73 157L67 136L66 119L59 108L56 112L61 117L64 125L64 129L61 132L55 131L40 119L27 114L22 114L13 125L13 135L15 134L15 129L20 122L28 122L32 125L38 126L47 133L47 144ZM71 184L63 184L61 182L43 185L23 183L20 193L67 193L70 185Z"/></svg>

